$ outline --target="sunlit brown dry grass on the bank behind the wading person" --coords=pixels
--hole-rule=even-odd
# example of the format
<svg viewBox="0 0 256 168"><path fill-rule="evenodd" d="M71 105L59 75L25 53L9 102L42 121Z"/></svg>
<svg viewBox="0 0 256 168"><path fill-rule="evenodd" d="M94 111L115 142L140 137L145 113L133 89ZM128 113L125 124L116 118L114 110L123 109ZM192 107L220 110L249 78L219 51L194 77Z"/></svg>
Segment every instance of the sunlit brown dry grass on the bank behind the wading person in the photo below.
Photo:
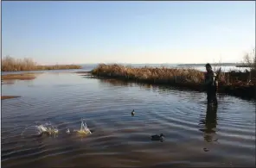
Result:
<svg viewBox="0 0 256 168"><path fill-rule="evenodd" d="M134 68L124 65L100 64L92 71L93 75L127 78L134 80L149 80L161 83L202 84L204 72L195 69L177 69L166 67L142 67ZM221 73L220 81L225 82L225 76Z"/></svg>

